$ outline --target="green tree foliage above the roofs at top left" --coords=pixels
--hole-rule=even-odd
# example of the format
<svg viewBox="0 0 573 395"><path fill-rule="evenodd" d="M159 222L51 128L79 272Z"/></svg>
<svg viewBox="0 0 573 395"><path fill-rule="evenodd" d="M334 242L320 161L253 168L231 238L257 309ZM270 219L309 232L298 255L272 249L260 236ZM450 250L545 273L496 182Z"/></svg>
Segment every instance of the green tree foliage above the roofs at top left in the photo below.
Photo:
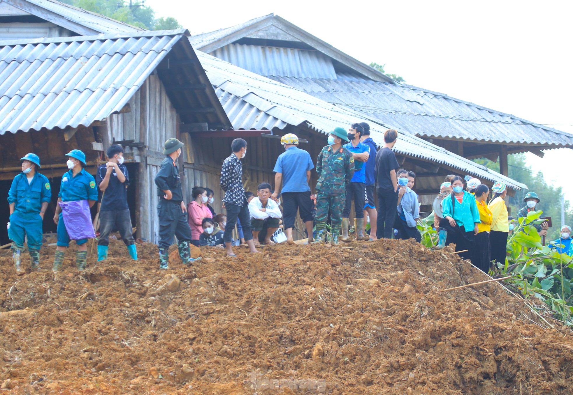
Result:
<svg viewBox="0 0 573 395"><path fill-rule="evenodd" d="M64 3L80 7L93 13L102 14L129 25L148 30L179 29L181 25L173 17L155 18L155 11L142 1L124 0L62 0Z"/></svg>

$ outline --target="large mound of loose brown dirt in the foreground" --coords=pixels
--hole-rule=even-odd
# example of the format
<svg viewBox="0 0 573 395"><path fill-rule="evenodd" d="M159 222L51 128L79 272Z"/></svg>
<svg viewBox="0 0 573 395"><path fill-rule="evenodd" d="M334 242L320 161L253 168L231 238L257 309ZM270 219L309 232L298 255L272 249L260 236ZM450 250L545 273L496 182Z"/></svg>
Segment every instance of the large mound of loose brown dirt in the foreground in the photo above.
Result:
<svg viewBox="0 0 573 395"><path fill-rule="evenodd" d="M0 252L2 390L26 394L573 393L571 333L446 248L273 246L158 270L155 246L79 274ZM27 259L25 260L27 263ZM535 322L534 322L535 321ZM555 322L558 323L558 322Z"/></svg>

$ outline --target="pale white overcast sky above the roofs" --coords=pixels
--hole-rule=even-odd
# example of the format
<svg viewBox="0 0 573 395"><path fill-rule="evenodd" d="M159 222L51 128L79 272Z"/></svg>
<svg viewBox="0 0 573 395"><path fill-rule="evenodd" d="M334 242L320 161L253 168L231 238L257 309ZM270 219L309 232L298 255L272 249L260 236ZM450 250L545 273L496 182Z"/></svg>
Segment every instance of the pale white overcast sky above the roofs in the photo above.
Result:
<svg viewBox="0 0 573 395"><path fill-rule="evenodd" d="M573 133L571 1L146 3L191 34L274 13L362 62L386 64L407 84ZM572 158L571 149L528 156L571 201Z"/></svg>

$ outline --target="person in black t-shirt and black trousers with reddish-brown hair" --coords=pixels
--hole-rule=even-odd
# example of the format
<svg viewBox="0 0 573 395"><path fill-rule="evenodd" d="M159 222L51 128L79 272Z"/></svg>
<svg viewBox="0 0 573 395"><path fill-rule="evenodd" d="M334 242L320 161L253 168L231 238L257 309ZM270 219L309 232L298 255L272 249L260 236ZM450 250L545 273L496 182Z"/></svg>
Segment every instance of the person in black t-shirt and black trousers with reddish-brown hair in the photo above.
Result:
<svg viewBox="0 0 573 395"><path fill-rule="evenodd" d="M394 221L398 207L398 180L396 170L399 168L392 148L396 144L398 132L388 129L384 132L384 147L376 153L376 181L378 186L378 221L376 237L391 239L394 235Z"/></svg>

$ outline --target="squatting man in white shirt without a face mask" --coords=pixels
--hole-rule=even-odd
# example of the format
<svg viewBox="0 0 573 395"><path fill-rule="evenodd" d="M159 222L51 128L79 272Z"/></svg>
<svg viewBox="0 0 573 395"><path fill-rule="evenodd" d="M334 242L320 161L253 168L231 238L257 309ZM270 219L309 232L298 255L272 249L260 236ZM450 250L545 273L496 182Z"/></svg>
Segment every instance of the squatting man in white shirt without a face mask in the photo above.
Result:
<svg viewBox="0 0 573 395"><path fill-rule="evenodd" d="M264 243L274 244L270 238L278 228L278 222L282 217L277 202L269 199L270 184L262 183L258 185L257 197L249 203L249 213L251 217L251 231L255 245L260 245L258 235L264 235Z"/></svg>

